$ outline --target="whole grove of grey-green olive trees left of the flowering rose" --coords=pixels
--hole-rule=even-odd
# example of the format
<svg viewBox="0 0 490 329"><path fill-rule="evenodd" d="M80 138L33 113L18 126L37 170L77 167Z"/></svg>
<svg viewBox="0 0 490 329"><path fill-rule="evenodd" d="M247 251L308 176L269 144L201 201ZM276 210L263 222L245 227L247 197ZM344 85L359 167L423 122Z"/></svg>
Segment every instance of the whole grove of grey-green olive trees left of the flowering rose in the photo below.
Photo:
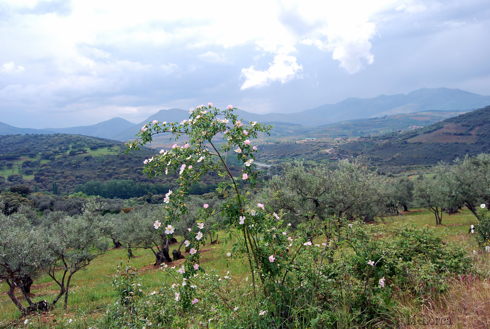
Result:
<svg viewBox="0 0 490 329"><path fill-rule="evenodd" d="M28 190L26 187L23 189ZM24 192L28 192L27 190ZM104 253L111 241L115 248L127 248L130 255L139 248L149 249L155 254L157 264L170 262L172 258L183 258L183 243L180 243L171 256L169 245L177 240L167 239L165 233L158 233L153 227L154 218L163 216L163 209L159 205L145 203L111 212L108 211L107 204L101 204L96 199L85 199L80 203L80 198L75 197L67 198L63 202L61 197L31 194L27 195L30 200L25 199L31 202L30 205L21 204L14 210L7 209L8 205L1 198L2 195L0 279L7 282L8 296L23 314L49 310L63 297L66 307L73 275ZM187 228L195 226L197 211L205 202L210 208L216 208L222 202L213 195L209 199L194 196L188 199L189 212L181 214L180 221L173 223L175 235L184 235ZM31 207L32 204L38 209L51 205L51 208L59 209L69 203L72 208L53 211L47 208L42 217ZM117 205L112 204L112 207ZM73 211L75 208L77 213ZM208 228L212 225L213 223L206 224ZM213 236L210 238L213 241ZM214 237L215 240L216 238ZM59 292L52 301L35 303L30 299L30 287L34 279L41 275L48 275L58 285ZM28 306L21 303L19 293L24 296Z"/></svg>

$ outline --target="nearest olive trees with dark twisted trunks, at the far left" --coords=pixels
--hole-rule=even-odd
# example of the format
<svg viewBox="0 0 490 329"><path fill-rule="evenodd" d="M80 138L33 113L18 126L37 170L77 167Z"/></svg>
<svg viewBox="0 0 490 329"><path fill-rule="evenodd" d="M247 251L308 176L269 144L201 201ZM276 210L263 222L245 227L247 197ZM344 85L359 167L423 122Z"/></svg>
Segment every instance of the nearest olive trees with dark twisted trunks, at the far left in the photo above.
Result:
<svg viewBox="0 0 490 329"><path fill-rule="evenodd" d="M8 296L23 314L49 310L63 296L67 306L73 275L109 247L112 226L99 210L100 203L92 200L83 205L79 216L50 216L41 223L32 221L34 216L26 214L29 209L9 215L0 212L0 279L8 284ZM30 299L33 279L42 273L59 286L50 303ZM27 307L17 297L17 288Z"/></svg>

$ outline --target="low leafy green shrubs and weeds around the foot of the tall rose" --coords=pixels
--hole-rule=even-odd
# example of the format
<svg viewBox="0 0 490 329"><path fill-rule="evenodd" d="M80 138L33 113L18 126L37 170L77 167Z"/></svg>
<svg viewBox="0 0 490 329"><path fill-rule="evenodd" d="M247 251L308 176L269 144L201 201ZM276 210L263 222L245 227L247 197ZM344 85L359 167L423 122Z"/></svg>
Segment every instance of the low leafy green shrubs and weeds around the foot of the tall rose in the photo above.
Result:
<svg viewBox="0 0 490 329"><path fill-rule="evenodd" d="M282 229L287 230L277 228ZM117 303L100 320L101 328L148 328L149 323L164 328L199 324L210 328L275 328L279 324L279 328L393 328L403 316L400 298L412 296L419 302L428 293L443 292L448 276L471 268L463 249L444 243L432 229L412 224L385 229L356 222L330 234L325 245L321 244L325 236L318 236L311 245L294 238L270 266L264 262L265 280L257 280L255 290L248 278L201 271L186 281L189 292L175 277L179 268L163 265L162 288L143 296L137 273L128 274L119 267L114 280ZM259 246L263 254L272 248L266 241L270 240L265 237ZM279 259L287 257L290 262ZM184 307L180 300L187 293L197 303Z"/></svg>

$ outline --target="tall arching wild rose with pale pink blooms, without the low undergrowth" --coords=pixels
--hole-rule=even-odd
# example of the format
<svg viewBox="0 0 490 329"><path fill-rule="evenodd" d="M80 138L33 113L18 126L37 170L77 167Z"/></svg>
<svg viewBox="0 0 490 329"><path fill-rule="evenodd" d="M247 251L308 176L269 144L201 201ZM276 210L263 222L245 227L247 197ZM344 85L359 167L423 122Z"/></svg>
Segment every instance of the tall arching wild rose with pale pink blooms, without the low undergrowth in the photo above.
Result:
<svg viewBox="0 0 490 329"><path fill-rule="evenodd" d="M258 171L253 163L258 148L251 139L257 137L257 132L269 133L271 126L261 125L257 122L248 124L239 120L233 114L231 105L224 111L212 106L200 105L190 109L189 119L180 123L159 123L153 121L141 128L138 139L126 143L129 150L139 148L152 141L152 136L159 133L171 133L175 142L183 139L182 143L173 144L170 150L161 150L159 155L152 156L144 161L144 173L147 175L168 175L178 173L180 187L165 195L167 215L162 222L158 219L154 227L170 237L175 228L172 222L178 221L180 216L188 212L186 197L189 188L210 171L217 172L223 181L218 187L225 201L220 209L207 210L203 204L196 216L196 226L188 228L185 237L186 248L190 250L189 256L179 270L181 287L178 301L184 308L192 308L196 292L186 283L196 274L204 274L200 266L199 249L205 244L207 233L205 226L211 217L221 216L220 228L227 231L225 243L231 243L230 256L233 258L245 256L251 271L251 284L255 289L256 276L260 279L265 294L268 295L269 286L266 281L273 282L291 266L289 248L293 237L288 235L284 223L279 215L265 208L264 204L250 204L248 193L240 189L241 182L254 187L257 182ZM227 156L236 156L245 165L239 177L234 177L226 165ZM283 233L284 232L284 233ZM294 237L306 242L308 237ZM292 258L291 258L292 259ZM282 264L282 268L280 268ZM257 309L257 312L260 310Z"/></svg>

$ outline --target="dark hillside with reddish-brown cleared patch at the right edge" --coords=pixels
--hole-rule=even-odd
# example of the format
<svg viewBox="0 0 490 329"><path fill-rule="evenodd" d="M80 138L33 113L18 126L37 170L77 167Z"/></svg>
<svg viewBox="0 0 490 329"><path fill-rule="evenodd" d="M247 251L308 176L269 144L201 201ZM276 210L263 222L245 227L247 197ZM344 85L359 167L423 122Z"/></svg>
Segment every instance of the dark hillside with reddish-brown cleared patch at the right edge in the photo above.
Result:
<svg viewBox="0 0 490 329"><path fill-rule="evenodd" d="M490 106L408 132L346 143L344 155L363 155L373 165L430 165L490 151Z"/></svg>

